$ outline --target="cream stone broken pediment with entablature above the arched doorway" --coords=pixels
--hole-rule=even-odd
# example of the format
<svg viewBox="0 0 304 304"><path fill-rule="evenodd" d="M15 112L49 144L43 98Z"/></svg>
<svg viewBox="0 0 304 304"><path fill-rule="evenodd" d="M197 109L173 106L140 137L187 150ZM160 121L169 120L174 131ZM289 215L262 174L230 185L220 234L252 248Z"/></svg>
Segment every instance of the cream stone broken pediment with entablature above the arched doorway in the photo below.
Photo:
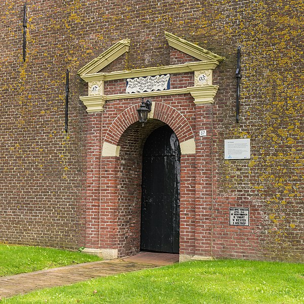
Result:
<svg viewBox="0 0 304 304"><path fill-rule="evenodd" d="M129 52L130 40L121 40L78 71L80 77L89 84L88 96L80 97L87 106L87 111L102 111L106 100L168 94L190 93L194 97L195 103L213 103L213 98L218 87L212 85L212 71L222 60L224 60L224 58L171 33L165 32L165 37L170 47L192 56L198 59L198 61L158 67L102 72L102 69L111 62L118 59L124 53ZM130 93L126 91L126 93L116 95L104 94L105 81L145 77L153 78L157 75L186 72L194 72L195 74L193 87L175 90L163 89L153 92L138 91L138 93Z"/></svg>

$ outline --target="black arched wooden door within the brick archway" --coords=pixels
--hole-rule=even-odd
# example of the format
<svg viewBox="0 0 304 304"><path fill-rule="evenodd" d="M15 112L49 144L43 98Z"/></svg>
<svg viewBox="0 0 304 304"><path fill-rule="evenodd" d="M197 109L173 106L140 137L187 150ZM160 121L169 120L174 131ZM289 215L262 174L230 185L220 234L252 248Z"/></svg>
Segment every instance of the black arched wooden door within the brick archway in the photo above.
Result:
<svg viewBox="0 0 304 304"><path fill-rule="evenodd" d="M142 157L141 250L179 252L180 148L168 126L147 138Z"/></svg>

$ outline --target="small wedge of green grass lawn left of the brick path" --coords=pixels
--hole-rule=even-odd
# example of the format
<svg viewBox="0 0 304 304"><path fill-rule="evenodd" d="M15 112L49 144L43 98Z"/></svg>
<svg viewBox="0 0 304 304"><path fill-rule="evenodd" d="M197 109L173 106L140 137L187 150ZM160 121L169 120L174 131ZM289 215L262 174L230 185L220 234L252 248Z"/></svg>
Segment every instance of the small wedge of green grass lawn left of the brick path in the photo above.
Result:
<svg viewBox="0 0 304 304"><path fill-rule="evenodd" d="M0 244L0 277L96 260L100 258L80 252Z"/></svg>

